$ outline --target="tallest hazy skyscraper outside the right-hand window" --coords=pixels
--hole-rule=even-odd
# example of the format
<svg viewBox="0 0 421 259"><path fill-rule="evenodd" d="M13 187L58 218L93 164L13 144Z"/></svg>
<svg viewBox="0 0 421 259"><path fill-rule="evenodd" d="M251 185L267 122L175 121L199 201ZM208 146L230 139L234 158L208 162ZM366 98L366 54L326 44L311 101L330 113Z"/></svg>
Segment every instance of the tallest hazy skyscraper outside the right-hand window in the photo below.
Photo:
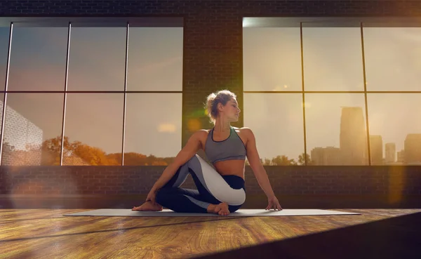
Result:
<svg viewBox="0 0 421 259"><path fill-rule="evenodd" d="M366 165L367 138L361 107L342 107L340 151L344 165Z"/></svg>

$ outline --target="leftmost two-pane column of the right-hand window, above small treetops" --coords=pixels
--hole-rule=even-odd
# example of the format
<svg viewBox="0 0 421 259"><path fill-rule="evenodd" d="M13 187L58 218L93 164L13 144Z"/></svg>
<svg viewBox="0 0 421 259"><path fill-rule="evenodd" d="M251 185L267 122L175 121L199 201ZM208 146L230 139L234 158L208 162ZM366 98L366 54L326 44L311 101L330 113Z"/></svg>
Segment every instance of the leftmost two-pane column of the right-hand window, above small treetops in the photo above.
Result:
<svg viewBox="0 0 421 259"><path fill-rule="evenodd" d="M305 164L300 60L300 30L243 30L244 126L264 165Z"/></svg>

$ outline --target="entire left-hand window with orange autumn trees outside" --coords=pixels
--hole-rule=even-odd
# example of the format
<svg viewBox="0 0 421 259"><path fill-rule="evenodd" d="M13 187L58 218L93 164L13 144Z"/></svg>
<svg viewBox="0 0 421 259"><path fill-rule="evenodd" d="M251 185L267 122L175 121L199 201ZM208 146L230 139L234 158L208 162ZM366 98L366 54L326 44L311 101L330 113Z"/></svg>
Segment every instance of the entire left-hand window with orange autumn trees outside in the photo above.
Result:
<svg viewBox="0 0 421 259"><path fill-rule="evenodd" d="M171 162L181 147L182 20L8 25L0 27L1 165Z"/></svg>

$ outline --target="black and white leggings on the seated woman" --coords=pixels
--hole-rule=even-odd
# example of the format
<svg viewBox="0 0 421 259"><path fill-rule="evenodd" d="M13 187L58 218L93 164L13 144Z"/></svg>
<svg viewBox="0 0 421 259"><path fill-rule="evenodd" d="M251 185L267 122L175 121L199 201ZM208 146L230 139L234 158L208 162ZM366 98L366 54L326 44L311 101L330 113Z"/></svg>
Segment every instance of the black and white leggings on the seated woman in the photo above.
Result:
<svg viewBox="0 0 421 259"><path fill-rule="evenodd" d="M189 173L197 190L180 188ZM220 175L197 154L180 166L173 178L156 193L156 203L181 213L207 213L209 204L221 202L226 202L229 212L233 213L244 201L246 188L243 178Z"/></svg>

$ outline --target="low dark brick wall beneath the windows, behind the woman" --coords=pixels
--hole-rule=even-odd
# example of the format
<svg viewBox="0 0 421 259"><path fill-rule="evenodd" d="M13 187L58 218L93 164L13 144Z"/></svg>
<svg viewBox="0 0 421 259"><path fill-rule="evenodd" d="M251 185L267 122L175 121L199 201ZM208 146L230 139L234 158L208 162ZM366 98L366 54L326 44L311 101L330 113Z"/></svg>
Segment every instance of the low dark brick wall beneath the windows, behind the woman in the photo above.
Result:
<svg viewBox="0 0 421 259"><path fill-rule="evenodd" d="M0 194L147 194L164 168L1 166ZM279 195L421 194L421 166L265 166L265 169ZM182 187L196 189L191 176ZM246 190L248 195L264 194L250 166L246 166Z"/></svg>

